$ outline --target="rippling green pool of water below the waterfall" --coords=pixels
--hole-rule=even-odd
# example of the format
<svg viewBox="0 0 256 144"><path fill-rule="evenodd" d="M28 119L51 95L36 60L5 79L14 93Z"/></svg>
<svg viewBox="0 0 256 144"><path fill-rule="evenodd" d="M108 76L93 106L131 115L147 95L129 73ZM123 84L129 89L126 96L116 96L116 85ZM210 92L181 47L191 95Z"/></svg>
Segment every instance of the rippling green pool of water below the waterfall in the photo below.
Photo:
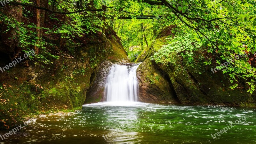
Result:
<svg viewBox="0 0 256 144"><path fill-rule="evenodd" d="M241 116L246 122L212 139ZM41 115L23 136L0 143L256 143L255 108L97 103L76 113Z"/></svg>

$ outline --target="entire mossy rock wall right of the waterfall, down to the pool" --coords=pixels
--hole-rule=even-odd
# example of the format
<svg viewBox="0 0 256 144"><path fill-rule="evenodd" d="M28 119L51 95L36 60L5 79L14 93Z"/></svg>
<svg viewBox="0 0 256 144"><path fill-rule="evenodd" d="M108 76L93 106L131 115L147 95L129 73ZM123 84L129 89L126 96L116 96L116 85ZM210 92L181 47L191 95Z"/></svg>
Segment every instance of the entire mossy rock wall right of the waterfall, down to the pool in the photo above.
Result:
<svg viewBox="0 0 256 144"><path fill-rule="evenodd" d="M215 68L216 65L206 66L203 63L207 61L206 58L217 57L205 49L195 51L195 61L191 63L176 53L170 56L175 64L168 67L150 60L150 56L165 44L166 36L156 39L137 59L137 62L145 60L137 71L140 101L186 105L256 106L256 94L247 92L245 82L241 80L238 88L231 90L229 87L232 84L229 82L228 74L222 74L222 71L213 74L211 68Z"/></svg>

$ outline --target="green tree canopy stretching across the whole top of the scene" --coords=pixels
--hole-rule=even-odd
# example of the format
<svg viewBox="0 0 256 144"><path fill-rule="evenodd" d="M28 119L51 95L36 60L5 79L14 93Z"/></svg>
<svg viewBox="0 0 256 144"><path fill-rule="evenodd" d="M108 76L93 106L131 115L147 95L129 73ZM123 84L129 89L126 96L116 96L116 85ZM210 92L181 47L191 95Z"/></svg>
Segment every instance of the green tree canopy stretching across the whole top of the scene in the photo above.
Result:
<svg viewBox="0 0 256 144"><path fill-rule="evenodd" d="M8 14L12 5L20 7L26 20L17 20ZM81 42L77 39L84 34L104 34L106 28L112 28L126 49L133 45L143 49L159 29L174 25L176 35L189 34L190 39L200 42L208 52L218 54L218 64L230 62L236 54L247 53L248 57L220 69L229 74L232 89L237 87L239 79L246 79L248 92L252 93L256 79L252 61L256 50L255 6L254 0L20 0L2 8L0 21L7 26L2 33L14 28L13 38L18 39L19 47L26 51L29 45L36 46L40 50L37 60L44 63L58 58L48 49L56 45L46 42L47 36L60 37L60 47L65 41L79 45ZM35 9L37 20L32 20ZM43 24L45 15L46 21L52 20L55 24ZM157 19L136 20L139 15L152 15ZM133 19L119 19L122 17ZM212 62L209 58L205 64Z"/></svg>

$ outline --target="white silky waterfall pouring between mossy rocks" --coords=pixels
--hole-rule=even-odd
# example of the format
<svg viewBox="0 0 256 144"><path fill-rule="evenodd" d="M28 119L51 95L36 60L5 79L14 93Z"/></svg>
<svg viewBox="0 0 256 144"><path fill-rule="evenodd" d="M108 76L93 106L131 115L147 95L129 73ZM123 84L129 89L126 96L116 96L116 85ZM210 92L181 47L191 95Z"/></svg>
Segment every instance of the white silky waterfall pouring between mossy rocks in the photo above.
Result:
<svg viewBox="0 0 256 144"><path fill-rule="evenodd" d="M140 63L131 67L113 65L108 73L104 98L107 102L138 101L138 80L136 76Z"/></svg>

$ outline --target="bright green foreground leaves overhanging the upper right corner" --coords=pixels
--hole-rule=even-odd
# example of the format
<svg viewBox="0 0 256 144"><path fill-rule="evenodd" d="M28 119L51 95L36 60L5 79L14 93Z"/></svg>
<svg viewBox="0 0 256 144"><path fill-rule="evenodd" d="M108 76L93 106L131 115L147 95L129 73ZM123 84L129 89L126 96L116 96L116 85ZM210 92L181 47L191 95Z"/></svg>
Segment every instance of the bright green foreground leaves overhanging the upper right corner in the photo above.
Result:
<svg viewBox="0 0 256 144"><path fill-rule="evenodd" d="M238 86L239 79L246 79L248 92L255 88L256 68L249 59L255 57L256 8L253 0L203 0L166 1L164 4L172 11L169 24L177 25L185 33L192 33L207 45L208 52L219 53L220 60L229 61L234 55L248 52L249 57L236 60L223 71L230 76L230 82ZM173 17L173 18L172 18ZM211 62L205 62L211 64Z"/></svg>

